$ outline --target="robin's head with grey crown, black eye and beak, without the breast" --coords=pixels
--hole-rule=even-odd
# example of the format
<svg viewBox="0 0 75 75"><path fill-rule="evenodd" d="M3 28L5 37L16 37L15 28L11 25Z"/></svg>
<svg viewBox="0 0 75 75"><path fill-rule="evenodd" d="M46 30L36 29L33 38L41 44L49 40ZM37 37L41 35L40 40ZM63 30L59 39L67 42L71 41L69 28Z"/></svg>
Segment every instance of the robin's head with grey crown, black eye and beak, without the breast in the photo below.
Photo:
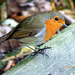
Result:
<svg viewBox="0 0 75 75"><path fill-rule="evenodd" d="M67 25L65 24L64 16L57 11L53 11L50 13L50 20L56 25L59 24L61 26L67 27Z"/></svg>

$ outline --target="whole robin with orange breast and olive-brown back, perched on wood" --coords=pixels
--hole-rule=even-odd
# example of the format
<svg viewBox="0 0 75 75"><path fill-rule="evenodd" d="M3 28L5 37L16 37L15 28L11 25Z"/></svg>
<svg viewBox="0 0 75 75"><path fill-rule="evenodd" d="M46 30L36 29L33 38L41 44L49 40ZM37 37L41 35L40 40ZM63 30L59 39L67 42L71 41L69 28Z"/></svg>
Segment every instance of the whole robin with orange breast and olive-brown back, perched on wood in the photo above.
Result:
<svg viewBox="0 0 75 75"><path fill-rule="evenodd" d="M23 45L36 46L51 39L62 26L67 27L61 13L58 11L42 12L25 18L8 34L0 37L0 42L11 39Z"/></svg>

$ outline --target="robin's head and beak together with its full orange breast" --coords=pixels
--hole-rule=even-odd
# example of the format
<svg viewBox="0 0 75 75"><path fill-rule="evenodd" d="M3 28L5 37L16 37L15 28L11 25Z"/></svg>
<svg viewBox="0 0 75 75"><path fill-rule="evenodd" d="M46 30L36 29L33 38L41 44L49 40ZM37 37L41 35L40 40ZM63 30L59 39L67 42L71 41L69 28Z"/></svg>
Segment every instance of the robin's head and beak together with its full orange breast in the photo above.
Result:
<svg viewBox="0 0 75 75"><path fill-rule="evenodd" d="M45 21L46 35L44 41L47 41L48 39L52 38L57 32L57 30L60 29L62 26L67 27L63 15L59 12L51 12L48 16L49 19Z"/></svg>

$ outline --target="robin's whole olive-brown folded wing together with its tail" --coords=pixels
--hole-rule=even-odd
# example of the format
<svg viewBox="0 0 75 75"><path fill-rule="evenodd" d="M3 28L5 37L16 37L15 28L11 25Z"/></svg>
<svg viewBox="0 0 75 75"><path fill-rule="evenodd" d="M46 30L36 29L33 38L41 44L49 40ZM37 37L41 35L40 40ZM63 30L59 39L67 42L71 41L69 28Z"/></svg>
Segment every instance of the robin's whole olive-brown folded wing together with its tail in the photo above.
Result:
<svg viewBox="0 0 75 75"><path fill-rule="evenodd" d="M40 21L41 18L41 16L36 15L24 19L16 28L1 37L0 41L25 38L37 34L44 27L44 23Z"/></svg>

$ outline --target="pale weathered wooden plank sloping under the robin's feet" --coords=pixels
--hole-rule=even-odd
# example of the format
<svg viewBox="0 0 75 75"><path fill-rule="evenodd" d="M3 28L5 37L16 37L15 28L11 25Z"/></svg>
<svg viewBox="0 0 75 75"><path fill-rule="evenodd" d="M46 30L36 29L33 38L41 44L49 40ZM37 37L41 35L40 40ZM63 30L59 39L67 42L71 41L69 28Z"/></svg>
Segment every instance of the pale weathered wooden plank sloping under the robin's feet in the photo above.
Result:
<svg viewBox="0 0 75 75"><path fill-rule="evenodd" d="M27 57L3 75L75 75L75 23L64 29L44 46L49 56Z"/></svg>

